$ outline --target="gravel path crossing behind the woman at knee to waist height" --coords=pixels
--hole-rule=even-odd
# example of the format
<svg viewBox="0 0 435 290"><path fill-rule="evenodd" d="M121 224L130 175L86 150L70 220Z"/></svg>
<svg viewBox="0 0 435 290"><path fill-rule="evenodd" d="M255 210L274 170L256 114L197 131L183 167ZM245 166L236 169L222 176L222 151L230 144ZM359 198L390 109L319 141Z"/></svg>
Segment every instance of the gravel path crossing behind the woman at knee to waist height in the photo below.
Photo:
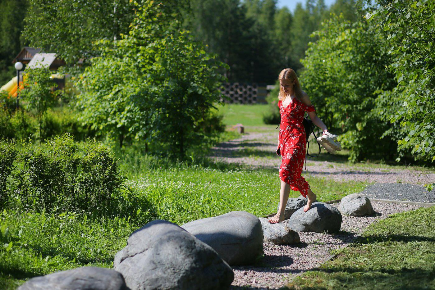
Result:
<svg viewBox="0 0 435 290"><path fill-rule="evenodd" d="M246 127L241 138L219 144L211 151L210 157L228 163L239 163L251 168L274 168L281 164L281 157L274 151L277 146L278 132L268 127ZM316 147L315 141L311 146ZM317 147L315 148L317 150ZM317 153L316 153L317 154ZM379 168L376 166L347 165L342 162L320 161L325 150L321 150L319 158L307 158L306 170L302 176L325 177L337 181L357 180L376 183L410 183L425 184L435 182L435 173L394 167ZM305 168L305 167L304 167Z"/></svg>

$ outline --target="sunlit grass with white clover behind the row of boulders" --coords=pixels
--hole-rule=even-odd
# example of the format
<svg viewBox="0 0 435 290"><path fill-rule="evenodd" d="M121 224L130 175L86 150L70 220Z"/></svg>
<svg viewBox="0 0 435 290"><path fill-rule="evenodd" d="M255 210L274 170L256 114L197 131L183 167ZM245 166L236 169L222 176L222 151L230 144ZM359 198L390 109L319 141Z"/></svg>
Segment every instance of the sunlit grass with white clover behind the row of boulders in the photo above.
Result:
<svg viewBox="0 0 435 290"><path fill-rule="evenodd" d="M149 208L135 208L133 216L92 219L86 213L5 210L0 217L0 241L4 245L0 249L0 289L13 289L31 277L75 267L113 267L115 253L147 220L164 219L181 225L232 210L261 217L276 212L278 206L277 170L225 164L179 164L152 170L144 164L136 166L124 164L134 177L127 186ZM359 192L366 184L310 176L306 179L323 201ZM291 191L291 197L299 195Z"/></svg>

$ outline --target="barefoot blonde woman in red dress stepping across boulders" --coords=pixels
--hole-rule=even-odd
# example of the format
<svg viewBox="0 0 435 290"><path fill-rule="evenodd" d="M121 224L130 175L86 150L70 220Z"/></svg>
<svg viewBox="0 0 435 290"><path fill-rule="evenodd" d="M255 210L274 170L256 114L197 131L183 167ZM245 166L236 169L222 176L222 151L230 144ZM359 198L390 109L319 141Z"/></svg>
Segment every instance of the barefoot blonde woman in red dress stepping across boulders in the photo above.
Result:
<svg viewBox="0 0 435 290"><path fill-rule="evenodd" d="M271 217L269 223L278 223L284 220L284 210L290 189L300 191L303 197L308 197L308 203L304 208L305 212L310 209L311 203L316 199L316 195L311 191L308 182L305 181L304 177L301 177L306 146L305 129L302 124L305 112L308 112L313 123L323 130L323 134L327 131L325 124L316 116L310 98L301 90L294 70L291 68L282 70L278 80L280 83L278 107L281 113L281 124L276 153L281 154L279 168L281 190L278 213Z"/></svg>

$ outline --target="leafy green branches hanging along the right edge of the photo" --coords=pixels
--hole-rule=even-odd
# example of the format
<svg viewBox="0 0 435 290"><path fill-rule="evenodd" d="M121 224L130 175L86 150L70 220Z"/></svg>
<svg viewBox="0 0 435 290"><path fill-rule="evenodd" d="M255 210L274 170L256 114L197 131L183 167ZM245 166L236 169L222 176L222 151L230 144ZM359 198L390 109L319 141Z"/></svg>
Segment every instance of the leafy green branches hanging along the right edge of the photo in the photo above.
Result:
<svg viewBox="0 0 435 290"><path fill-rule="evenodd" d="M397 138L399 149L409 150L415 159L435 160L435 1L394 0L365 15L378 19L392 43L388 54L396 60L388 65L398 85L401 100L391 123L400 120L406 136ZM405 97L405 100L403 100Z"/></svg>

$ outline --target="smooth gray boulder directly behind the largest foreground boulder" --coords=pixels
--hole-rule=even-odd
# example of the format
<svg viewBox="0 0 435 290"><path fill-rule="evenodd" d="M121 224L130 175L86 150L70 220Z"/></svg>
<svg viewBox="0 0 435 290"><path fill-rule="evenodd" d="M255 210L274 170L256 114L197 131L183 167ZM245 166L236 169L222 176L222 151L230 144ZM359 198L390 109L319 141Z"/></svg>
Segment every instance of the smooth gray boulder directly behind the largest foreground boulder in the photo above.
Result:
<svg viewBox="0 0 435 290"><path fill-rule="evenodd" d="M230 265L253 264L263 254L261 222L245 211L194 220L181 227L216 250Z"/></svg>

